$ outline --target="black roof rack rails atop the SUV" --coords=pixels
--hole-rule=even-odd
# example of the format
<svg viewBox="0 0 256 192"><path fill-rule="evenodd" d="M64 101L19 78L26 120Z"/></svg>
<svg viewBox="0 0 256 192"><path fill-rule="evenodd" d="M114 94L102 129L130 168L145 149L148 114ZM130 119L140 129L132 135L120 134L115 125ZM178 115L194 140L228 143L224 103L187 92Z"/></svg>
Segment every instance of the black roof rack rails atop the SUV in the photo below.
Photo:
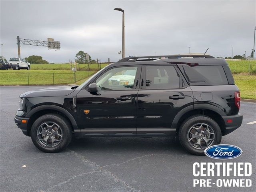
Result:
<svg viewBox="0 0 256 192"><path fill-rule="evenodd" d="M186 57L193 57L193 58L206 58L206 59L212 59L215 58L211 55L192 55L192 54L186 54L186 55L158 55L158 56L141 56L141 57L126 57L118 61L120 62L134 62L134 61L154 61L158 59L179 59L179 58L186 58Z"/></svg>

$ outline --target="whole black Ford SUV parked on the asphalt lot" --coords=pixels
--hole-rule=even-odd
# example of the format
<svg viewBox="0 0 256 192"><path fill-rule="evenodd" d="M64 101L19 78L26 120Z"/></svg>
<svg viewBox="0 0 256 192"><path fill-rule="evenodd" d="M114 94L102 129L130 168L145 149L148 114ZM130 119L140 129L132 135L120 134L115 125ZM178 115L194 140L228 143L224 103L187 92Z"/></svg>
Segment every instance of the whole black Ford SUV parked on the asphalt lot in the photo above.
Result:
<svg viewBox="0 0 256 192"><path fill-rule="evenodd" d="M177 136L192 154L242 124L227 62L209 55L123 58L80 86L20 95L15 122L44 152L75 137Z"/></svg>

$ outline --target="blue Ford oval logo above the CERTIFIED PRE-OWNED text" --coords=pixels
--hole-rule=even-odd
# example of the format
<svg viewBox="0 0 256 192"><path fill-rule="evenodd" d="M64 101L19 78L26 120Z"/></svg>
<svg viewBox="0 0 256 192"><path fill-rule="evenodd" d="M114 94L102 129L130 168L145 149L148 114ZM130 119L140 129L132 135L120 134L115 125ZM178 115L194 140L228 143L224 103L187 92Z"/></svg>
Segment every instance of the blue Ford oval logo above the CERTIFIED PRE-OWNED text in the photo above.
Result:
<svg viewBox="0 0 256 192"><path fill-rule="evenodd" d="M204 154L214 159L232 159L242 154L242 149L233 145L214 145L204 150Z"/></svg>

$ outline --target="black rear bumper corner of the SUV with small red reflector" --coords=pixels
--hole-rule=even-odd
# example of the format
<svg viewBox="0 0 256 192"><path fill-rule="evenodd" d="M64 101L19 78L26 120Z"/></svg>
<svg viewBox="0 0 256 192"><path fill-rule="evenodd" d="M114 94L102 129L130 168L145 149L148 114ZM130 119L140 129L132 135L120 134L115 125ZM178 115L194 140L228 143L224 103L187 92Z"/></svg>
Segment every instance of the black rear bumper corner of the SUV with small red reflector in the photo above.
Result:
<svg viewBox="0 0 256 192"><path fill-rule="evenodd" d="M232 116L222 116L222 118L226 125L226 130L222 133L222 135L227 135L233 132L234 130L241 126L243 121L243 115L240 113ZM228 120L232 120L232 122L228 123Z"/></svg>

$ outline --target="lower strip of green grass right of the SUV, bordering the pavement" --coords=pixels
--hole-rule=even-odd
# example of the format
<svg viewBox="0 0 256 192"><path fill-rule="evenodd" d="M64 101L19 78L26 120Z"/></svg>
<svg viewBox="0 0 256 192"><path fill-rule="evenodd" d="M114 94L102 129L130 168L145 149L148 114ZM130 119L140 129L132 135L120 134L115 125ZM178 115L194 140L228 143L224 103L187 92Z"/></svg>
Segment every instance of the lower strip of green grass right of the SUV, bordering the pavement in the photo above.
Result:
<svg viewBox="0 0 256 192"><path fill-rule="evenodd" d="M240 96L243 99L256 99L256 76L234 74L235 84L240 89Z"/></svg>

